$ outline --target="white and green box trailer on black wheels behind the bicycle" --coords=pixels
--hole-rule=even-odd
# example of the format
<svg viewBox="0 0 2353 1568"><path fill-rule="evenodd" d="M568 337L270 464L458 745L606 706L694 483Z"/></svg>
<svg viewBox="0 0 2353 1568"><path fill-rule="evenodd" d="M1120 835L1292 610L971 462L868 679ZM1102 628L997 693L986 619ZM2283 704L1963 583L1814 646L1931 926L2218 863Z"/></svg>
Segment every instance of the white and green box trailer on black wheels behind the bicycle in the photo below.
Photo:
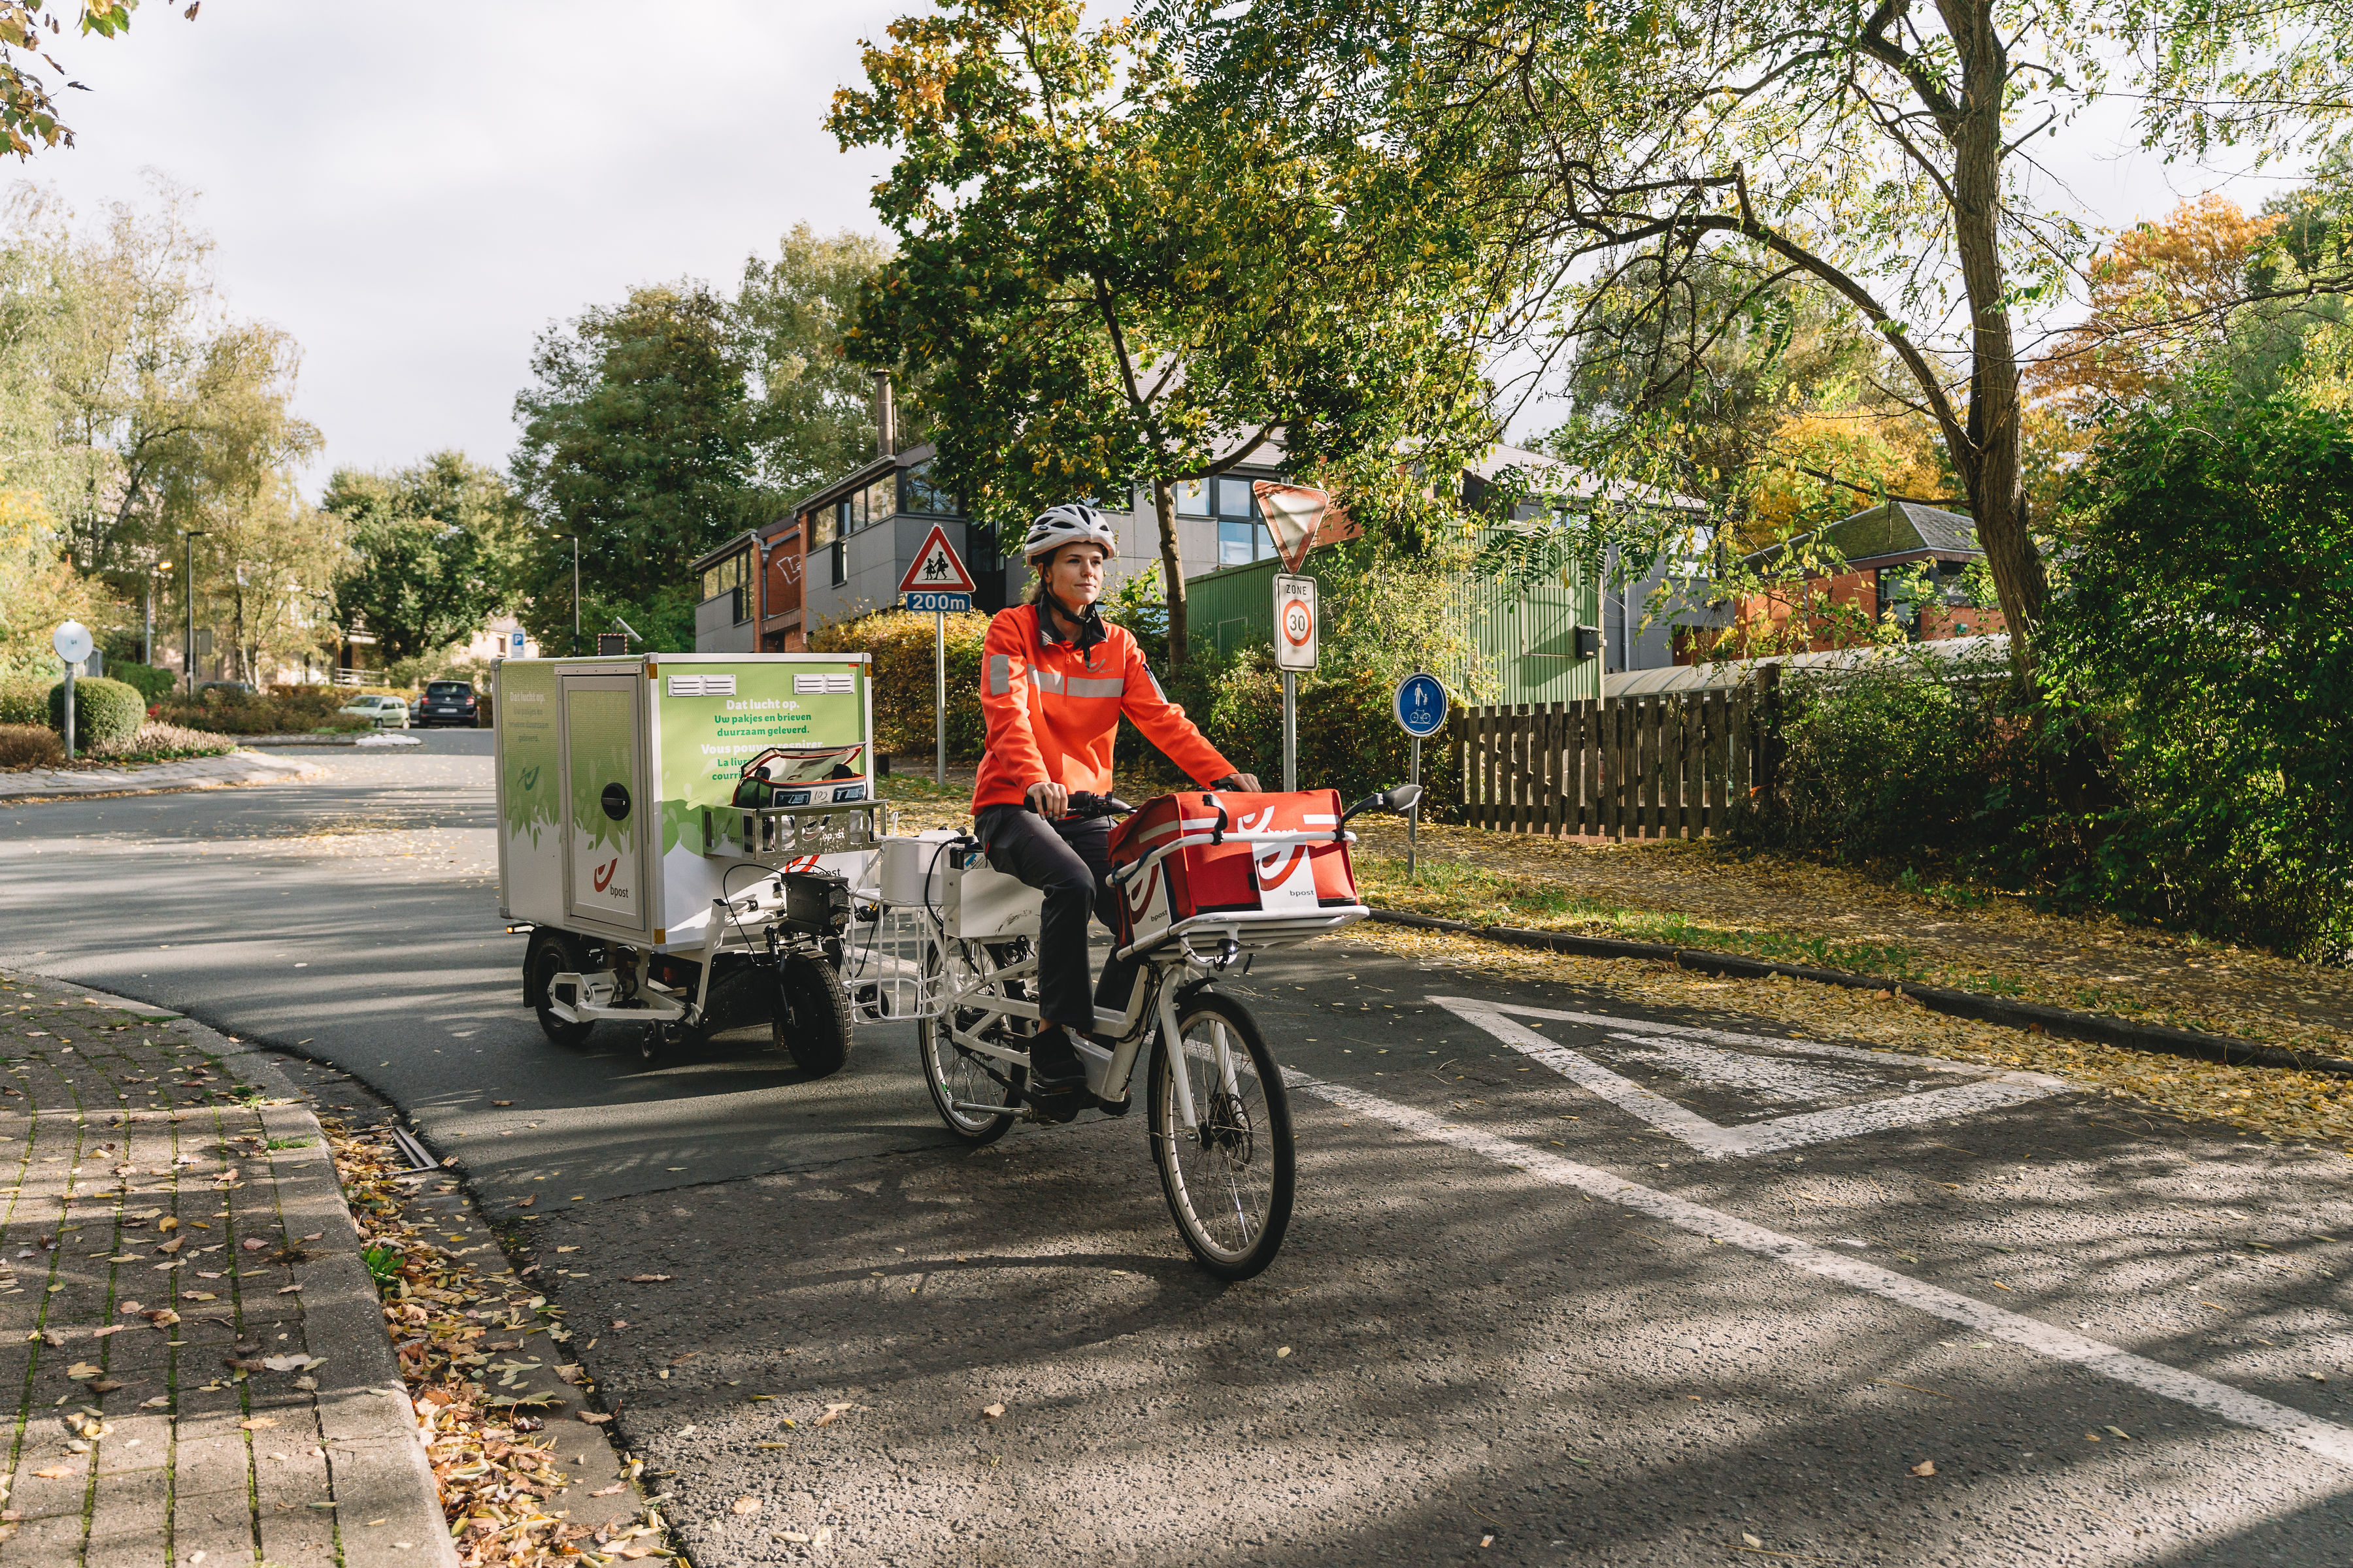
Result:
<svg viewBox="0 0 2353 1568"><path fill-rule="evenodd" d="M492 684L499 912L532 933L539 1027L626 1023L652 1056L765 1018L840 1067L882 827L868 656L511 658Z"/></svg>

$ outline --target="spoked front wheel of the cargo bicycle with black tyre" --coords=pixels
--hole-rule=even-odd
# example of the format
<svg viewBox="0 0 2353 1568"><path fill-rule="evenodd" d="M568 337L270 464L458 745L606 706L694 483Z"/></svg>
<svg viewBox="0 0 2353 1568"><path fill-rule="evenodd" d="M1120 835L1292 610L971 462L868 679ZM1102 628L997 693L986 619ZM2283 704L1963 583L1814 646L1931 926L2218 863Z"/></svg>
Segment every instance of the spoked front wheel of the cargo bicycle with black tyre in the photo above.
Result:
<svg viewBox="0 0 2353 1568"><path fill-rule="evenodd" d="M1176 1234L1219 1279L1249 1279L1282 1251L1297 1161L1282 1070L1233 997L1195 994L1176 1009L1179 1041L1153 1044L1153 1161ZM1184 1126L1176 1074L1193 1091Z"/></svg>

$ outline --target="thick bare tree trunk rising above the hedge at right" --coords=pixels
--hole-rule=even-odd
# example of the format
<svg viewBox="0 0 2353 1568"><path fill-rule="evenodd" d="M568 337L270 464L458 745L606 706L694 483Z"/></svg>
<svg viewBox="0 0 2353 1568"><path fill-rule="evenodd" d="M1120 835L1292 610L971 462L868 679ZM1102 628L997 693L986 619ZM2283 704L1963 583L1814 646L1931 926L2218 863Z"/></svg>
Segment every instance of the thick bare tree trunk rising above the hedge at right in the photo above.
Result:
<svg viewBox="0 0 2353 1568"><path fill-rule="evenodd" d="M1993 569L2002 621L2009 625L2009 665L2021 682L2031 682L2033 637L2049 581L2028 534L2021 473L2026 402L2019 395L2019 353L2000 247L2002 89L2009 63L1988 0L1946 5L1944 16L1962 54L1962 113L1953 136L1953 240L1969 292L1969 449L1953 456L1969 491L1977 543Z"/></svg>

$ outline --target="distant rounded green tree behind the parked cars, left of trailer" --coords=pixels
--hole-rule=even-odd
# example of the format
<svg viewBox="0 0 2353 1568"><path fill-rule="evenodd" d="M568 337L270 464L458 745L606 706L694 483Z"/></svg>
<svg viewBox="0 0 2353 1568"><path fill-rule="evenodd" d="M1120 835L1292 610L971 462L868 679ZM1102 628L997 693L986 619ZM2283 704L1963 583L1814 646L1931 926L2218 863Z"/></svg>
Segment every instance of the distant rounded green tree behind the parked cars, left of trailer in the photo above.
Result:
<svg viewBox="0 0 2353 1568"><path fill-rule="evenodd" d="M520 505L464 451L395 473L339 468L320 510L341 522L351 550L334 585L336 621L365 618L386 663L464 642L506 609Z"/></svg>

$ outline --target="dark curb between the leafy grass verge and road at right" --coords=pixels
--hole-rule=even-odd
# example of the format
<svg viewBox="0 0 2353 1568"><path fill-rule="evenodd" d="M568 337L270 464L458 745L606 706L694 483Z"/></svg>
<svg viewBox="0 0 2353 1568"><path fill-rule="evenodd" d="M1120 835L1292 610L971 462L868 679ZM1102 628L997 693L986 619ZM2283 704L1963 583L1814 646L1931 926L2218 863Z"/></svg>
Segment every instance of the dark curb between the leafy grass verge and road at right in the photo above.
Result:
<svg viewBox="0 0 2353 1568"><path fill-rule="evenodd" d="M1918 985L1913 980L1889 980L1885 976L1861 976L1847 969L1814 969L1812 964L1772 964L1732 952L1708 952L1706 947L1666 947L1661 943L1626 943L1609 936L1569 936L1567 931L1527 931L1522 926L1473 926L1464 919L1440 919L1435 914L1407 914L1405 910L1374 910L1372 919L1391 926L1419 926L1424 931L1457 931L1461 936L1487 938L1511 947L1544 947L1551 952L1574 952L1588 959L1649 959L1675 964L1704 976L1788 976L1791 980L1814 980L1817 985L1842 985L1847 990L1887 990L1911 997L1934 1013L1998 1023L2012 1030L2042 1030L2064 1039L2085 1039L2099 1046L2146 1051L2151 1056L2184 1056L2224 1067L2292 1067L2322 1077L2353 1079L2353 1060L2315 1056L2311 1051L2282 1051L2259 1046L2235 1034L2200 1034L2195 1030L2172 1030L2153 1023L2127 1023L2106 1013L2078 1013L2045 1001L2017 1001L2012 997L1988 997L1984 992L1951 990L1944 985Z"/></svg>

